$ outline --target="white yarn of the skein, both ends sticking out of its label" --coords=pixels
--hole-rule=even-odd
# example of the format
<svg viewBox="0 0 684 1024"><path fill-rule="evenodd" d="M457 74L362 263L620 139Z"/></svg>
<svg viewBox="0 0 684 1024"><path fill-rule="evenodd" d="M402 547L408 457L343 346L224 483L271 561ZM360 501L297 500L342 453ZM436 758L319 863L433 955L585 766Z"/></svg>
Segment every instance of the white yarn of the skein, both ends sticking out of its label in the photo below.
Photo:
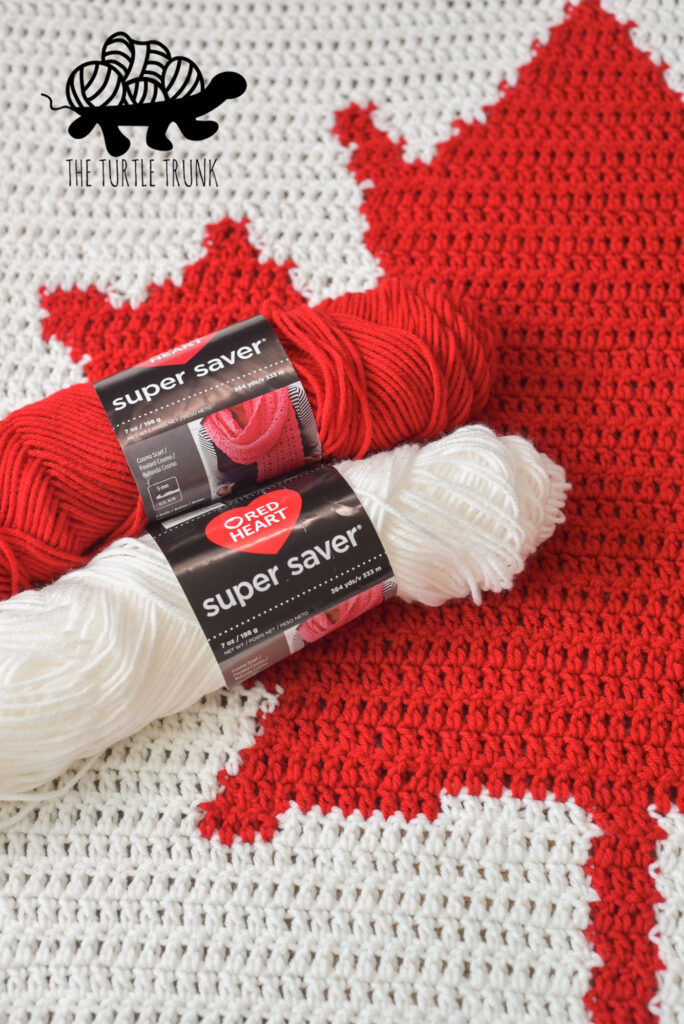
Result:
<svg viewBox="0 0 684 1024"><path fill-rule="evenodd" d="M483 426L337 468L380 535L397 596L428 605L511 587L562 522L568 489L528 441ZM0 604L0 799L25 799L223 685L156 543L115 542Z"/></svg>

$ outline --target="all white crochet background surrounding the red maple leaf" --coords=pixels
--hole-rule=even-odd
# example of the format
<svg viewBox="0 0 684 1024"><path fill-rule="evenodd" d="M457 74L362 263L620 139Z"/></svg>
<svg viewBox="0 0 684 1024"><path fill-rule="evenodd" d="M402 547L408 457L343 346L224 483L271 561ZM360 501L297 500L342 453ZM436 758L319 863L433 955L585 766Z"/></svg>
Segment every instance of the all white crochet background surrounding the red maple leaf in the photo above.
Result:
<svg viewBox="0 0 684 1024"><path fill-rule="evenodd" d="M684 90L684 4L603 0ZM263 258L293 260L311 301L373 285L362 186L331 134L374 102L377 125L429 159L483 119L565 0L0 0L3 148L0 416L83 379L46 344L39 288L96 286L115 304L179 283L208 223L249 219ZM69 72L118 30L163 40L205 77L242 72L216 136L218 187L70 188ZM172 133L175 129L172 129ZM147 152L133 129L131 156ZM93 133L78 152L108 154ZM437 819L365 821L291 807L272 842L202 839L197 804L254 741L257 685L118 744L60 799L0 825L0 1020L575 1022L597 957L584 870L595 826L572 803L444 797ZM2 810L2 809L0 809ZM11 809L10 809L11 810ZM660 821L654 1008L684 1020L684 826Z"/></svg>

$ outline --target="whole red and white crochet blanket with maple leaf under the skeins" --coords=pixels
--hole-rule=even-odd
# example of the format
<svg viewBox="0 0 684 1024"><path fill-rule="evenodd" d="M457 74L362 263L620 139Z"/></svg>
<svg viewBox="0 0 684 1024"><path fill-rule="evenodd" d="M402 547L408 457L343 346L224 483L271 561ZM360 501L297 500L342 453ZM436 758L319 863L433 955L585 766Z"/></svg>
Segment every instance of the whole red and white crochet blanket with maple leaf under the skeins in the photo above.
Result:
<svg viewBox="0 0 684 1024"><path fill-rule="evenodd" d="M40 93L118 30L245 76L214 136L68 134ZM5 0L0 414L398 271L499 318L483 419L572 492L510 594L374 608L3 824L0 1019L684 1021L683 38L667 0Z"/></svg>

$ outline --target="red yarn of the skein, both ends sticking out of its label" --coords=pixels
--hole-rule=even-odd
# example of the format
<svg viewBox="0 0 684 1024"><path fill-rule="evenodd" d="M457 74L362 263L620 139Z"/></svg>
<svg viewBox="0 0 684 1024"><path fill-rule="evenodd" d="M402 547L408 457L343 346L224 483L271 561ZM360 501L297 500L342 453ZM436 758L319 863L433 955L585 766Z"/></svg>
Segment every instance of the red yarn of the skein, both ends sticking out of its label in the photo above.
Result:
<svg viewBox="0 0 684 1024"><path fill-rule="evenodd" d="M384 279L310 308L264 306L318 426L324 456L428 440L481 411L496 336L433 285ZM0 422L0 597L88 561L145 517L91 384Z"/></svg>

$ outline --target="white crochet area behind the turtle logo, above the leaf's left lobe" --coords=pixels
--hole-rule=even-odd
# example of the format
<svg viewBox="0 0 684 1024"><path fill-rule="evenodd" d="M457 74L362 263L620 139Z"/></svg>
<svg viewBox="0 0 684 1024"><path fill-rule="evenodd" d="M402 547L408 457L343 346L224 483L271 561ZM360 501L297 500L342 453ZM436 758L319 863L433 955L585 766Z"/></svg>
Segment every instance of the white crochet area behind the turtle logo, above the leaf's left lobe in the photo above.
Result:
<svg viewBox="0 0 684 1024"><path fill-rule="evenodd" d="M151 283L180 282L206 225L223 217L248 217L253 244L264 258L293 260L293 283L312 301L374 285L362 191L331 133L335 112L373 101L379 127L408 139L407 159L429 158L455 118L482 118L500 82L515 81L563 6L4 0L0 225L11 260L0 279L0 415L82 377L61 342L42 340L40 286L95 285L116 304L140 302ZM218 188L69 187L69 158L98 166L108 153L99 132L76 147L73 115L50 111L41 92L63 103L72 69L122 29L186 53L205 79L224 70L247 79L213 138L187 142L171 129L174 159L218 158ZM151 154L143 127L130 138L129 156Z"/></svg>

